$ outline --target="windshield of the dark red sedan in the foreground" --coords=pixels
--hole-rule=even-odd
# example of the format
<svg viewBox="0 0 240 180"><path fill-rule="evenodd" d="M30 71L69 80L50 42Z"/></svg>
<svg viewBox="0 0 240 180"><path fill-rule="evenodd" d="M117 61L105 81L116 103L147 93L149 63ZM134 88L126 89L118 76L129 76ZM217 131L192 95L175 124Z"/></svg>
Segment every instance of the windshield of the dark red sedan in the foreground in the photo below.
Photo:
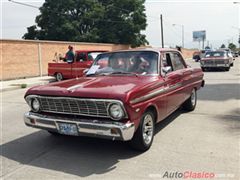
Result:
<svg viewBox="0 0 240 180"><path fill-rule="evenodd" d="M158 53L153 51L123 51L97 56L87 75L158 73Z"/></svg>

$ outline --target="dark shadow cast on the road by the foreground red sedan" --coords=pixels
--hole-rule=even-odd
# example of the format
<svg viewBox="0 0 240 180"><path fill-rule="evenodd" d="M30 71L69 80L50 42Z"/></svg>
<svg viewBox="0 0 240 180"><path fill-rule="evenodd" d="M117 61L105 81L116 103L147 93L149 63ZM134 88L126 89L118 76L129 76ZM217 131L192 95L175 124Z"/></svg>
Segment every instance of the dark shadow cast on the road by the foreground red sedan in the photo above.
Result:
<svg viewBox="0 0 240 180"><path fill-rule="evenodd" d="M176 111L156 125L156 133L174 121L181 110ZM53 136L38 131L0 146L1 156L20 164L28 164L68 174L87 177L112 171L122 159L141 154L127 143L88 137ZM9 169L3 163L3 173Z"/></svg>

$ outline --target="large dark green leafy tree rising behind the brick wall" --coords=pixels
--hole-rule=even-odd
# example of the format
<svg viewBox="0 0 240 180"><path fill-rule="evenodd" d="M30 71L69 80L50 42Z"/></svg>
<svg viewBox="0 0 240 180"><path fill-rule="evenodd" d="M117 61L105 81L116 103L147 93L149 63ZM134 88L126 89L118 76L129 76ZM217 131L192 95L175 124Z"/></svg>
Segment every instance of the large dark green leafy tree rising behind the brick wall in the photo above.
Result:
<svg viewBox="0 0 240 180"><path fill-rule="evenodd" d="M46 0L24 39L147 44L145 0Z"/></svg>

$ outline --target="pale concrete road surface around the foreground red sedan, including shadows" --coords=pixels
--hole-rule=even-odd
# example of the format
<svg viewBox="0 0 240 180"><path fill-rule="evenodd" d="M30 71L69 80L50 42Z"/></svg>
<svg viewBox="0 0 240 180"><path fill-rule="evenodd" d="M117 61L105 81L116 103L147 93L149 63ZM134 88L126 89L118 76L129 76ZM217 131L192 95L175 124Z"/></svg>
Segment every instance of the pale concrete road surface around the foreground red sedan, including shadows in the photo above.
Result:
<svg viewBox="0 0 240 180"><path fill-rule="evenodd" d="M54 137L26 127L26 89L3 92L0 178L161 179L166 172L192 171L238 180L240 58L229 72L206 72L205 80L196 110L178 110L159 123L153 145L145 153L133 151L123 142Z"/></svg>

